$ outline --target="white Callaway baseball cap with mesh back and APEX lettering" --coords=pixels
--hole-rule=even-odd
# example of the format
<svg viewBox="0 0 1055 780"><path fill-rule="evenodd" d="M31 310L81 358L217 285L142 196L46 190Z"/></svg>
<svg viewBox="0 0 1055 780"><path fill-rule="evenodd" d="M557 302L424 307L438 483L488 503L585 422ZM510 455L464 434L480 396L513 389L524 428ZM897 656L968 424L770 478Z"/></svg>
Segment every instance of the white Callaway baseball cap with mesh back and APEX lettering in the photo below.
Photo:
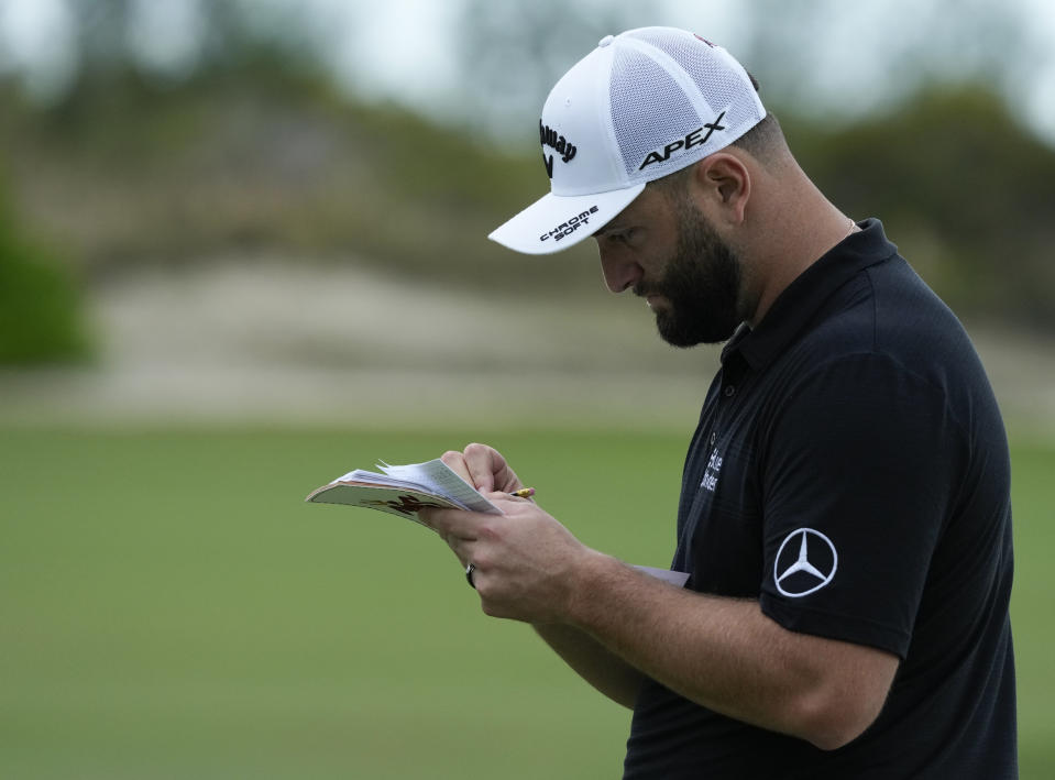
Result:
<svg viewBox="0 0 1055 780"><path fill-rule="evenodd" d="M608 35L542 107L549 194L487 238L527 254L567 249L648 182L714 154L765 117L750 76L721 46L674 28Z"/></svg>

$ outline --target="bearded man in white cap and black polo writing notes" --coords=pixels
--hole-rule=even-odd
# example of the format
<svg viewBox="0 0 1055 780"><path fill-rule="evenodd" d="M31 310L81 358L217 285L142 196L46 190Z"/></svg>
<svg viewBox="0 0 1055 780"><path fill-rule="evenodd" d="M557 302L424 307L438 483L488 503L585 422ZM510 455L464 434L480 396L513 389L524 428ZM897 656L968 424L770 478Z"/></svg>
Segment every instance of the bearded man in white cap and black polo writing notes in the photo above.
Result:
<svg viewBox="0 0 1055 780"><path fill-rule="evenodd" d="M684 587L508 496L493 449L443 457L504 512L426 514L483 611L633 707L626 778L1015 777L1008 448L955 317L691 33L601 41L540 141L551 193L492 238L592 234L667 341L728 343L685 462Z"/></svg>

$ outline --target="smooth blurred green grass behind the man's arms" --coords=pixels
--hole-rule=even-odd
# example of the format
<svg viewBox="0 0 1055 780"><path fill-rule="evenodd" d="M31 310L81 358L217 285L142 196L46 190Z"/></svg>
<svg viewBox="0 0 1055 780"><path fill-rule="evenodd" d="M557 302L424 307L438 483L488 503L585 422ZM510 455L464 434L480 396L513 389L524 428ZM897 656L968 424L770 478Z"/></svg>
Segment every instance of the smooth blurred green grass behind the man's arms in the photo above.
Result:
<svg viewBox="0 0 1055 780"><path fill-rule="evenodd" d="M584 541L668 562L685 437L487 439ZM464 443L0 432L0 777L617 777L627 711L484 617L442 542L300 503ZM1055 449L1014 465L1022 777L1042 778Z"/></svg>

